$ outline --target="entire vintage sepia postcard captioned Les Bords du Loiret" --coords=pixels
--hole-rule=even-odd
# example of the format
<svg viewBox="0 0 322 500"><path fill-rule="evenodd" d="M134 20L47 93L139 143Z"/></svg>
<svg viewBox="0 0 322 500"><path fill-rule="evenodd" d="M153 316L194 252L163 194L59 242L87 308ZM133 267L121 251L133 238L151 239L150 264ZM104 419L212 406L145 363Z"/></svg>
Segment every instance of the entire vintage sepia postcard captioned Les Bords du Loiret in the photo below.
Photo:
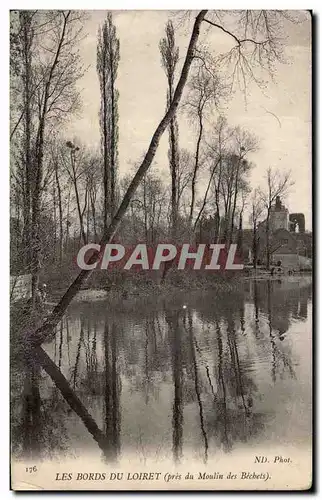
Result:
<svg viewBox="0 0 322 500"><path fill-rule="evenodd" d="M13 490L311 488L311 29L10 12Z"/></svg>

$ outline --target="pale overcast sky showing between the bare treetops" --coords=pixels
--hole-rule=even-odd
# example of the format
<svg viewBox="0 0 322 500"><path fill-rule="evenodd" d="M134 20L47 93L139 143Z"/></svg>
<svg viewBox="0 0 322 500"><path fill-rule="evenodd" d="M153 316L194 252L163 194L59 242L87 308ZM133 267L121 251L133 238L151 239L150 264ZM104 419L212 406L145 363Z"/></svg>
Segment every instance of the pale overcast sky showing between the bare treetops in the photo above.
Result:
<svg viewBox="0 0 322 500"><path fill-rule="evenodd" d="M252 185L263 183L268 166L291 169L295 184L285 203L290 212L303 212L306 228L311 229L311 20L305 12L298 14L303 19L301 24L284 23L287 64L278 65L275 82L268 84L265 94L255 83L249 85L247 103L242 92L237 90L223 111L231 125L244 126L259 138L260 148L251 157L256 164L251 175ZM121 175L146 151L164 113L166 80L158 45L170 15L168 11L114 12L121 54L117 80ZM105 11L89 12L85 24L88 36L81 45L84 64L89 66L79 82L83 109L68 126L71 137L78 137L88 145L98 145L100 141L96 39L98 27L105 17ZM201 40L214 54L231 46L224 33L213 28L209 31L207 25L202 26L202 30ZM189 29L180 29L176 37L182 63L189 42ZM217 115L214 110L214 120ZM193 151L194 131L184 115L180 116L179 127L180 147ZM169 173L167 148L165 134L156 155L157 168L164 175Z"/></svg>

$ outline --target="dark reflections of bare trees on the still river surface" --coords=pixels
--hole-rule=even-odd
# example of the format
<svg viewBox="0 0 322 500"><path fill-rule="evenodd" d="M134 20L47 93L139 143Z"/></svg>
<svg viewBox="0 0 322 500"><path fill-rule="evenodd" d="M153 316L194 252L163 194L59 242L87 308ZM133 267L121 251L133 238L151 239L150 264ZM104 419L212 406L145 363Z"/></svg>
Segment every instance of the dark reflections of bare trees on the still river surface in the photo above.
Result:
<svg viewBox="0 0 322 500"><path fill-rule="evenodd" d="M113 314L102 304L75 307L45 346L49 356L28 357L23 372L13 366L14 454L61 456L78 439L98 445L108 462L135 442L165 454L172 448L175 463L187 450L206 462L238 443L267 443L266 423L278 407L270 401L270 411L261 410L265 387L295 380L289 332L296 323L306 331L310 299L310 286L262 281ZM288 397L296 404L294 388ZM156 429L164 429L164 445Z"/></svg>

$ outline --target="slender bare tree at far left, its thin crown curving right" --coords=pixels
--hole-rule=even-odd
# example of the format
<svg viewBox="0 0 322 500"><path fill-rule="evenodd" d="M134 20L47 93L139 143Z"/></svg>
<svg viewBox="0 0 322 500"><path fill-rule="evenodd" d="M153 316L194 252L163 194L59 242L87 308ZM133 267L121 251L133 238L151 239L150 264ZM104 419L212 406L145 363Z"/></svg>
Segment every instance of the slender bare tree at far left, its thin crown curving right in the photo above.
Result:
<svg viewBox="0 0 322 500"><path fill-rule="evenodd" d="M49 28L52 37L46 37L48 45L44 56L40 56L39 67L44 84L38 92L38 126L34 146L33 195L32 195L32 290L35 297L39 283L40 241L39 216L41 202L41 182L43 175L44 143L46 126L50 119L56 121L71 113L78 105L75 83L83 74L75 43L79 40L80 17L77 12L61 11L58 19L50 14ZM76 30L76 33L75 33ZM78 36L77 36L78 35ZM42 45L43 46L43 45Z"/></svg>

